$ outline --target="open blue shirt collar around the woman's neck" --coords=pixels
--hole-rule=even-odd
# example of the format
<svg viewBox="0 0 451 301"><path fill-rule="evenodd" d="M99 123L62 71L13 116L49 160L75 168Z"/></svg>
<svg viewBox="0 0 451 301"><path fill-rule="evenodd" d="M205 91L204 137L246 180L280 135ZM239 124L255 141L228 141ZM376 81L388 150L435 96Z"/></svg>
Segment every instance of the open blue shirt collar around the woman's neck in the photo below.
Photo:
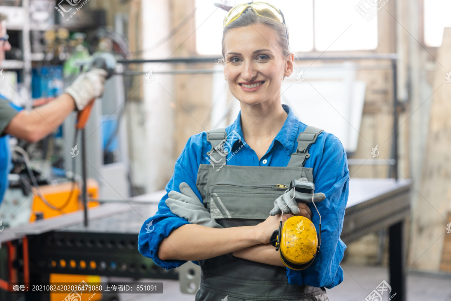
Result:
<svg viewBox="0 0 451 301"><path fill-rule="evenodd" d="M285 112L288 113L288 116L274 140L279 141L285 147L287 155L291 155L294 152L295 141L298 137L299 119L288 105L282 104L282 107ZM241 110L234 123L227 128L227 141L232 146L238 141L246 143L243 138L243 129L241 127ZM273 145L273 143L271 145Z"/></svg>

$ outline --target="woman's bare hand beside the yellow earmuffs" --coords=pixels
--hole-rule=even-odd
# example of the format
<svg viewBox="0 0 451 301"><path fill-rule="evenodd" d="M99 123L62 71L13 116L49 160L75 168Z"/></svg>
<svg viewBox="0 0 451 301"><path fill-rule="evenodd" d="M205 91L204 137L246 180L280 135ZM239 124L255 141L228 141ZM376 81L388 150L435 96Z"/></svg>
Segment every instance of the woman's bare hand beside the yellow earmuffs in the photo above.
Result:
<svg viewBox="0 0 451 301"><path fill-rule="evenodd" d="M299 207L299 214L303 217L308 218L309 220L312 220L312 211L310 210L309 206L305 203L298 203ZM275 215L275 216L269 216L265 221L261 222L260 224L256 225L256 232L259 237L260 243L266 244L270 243L271 235L275 230L279 230L279 224L280 224L280 215L281 213ZM295 215L293 214L284 214L282 218L282 227L287 219L290 217L293 217Z"/></svg>

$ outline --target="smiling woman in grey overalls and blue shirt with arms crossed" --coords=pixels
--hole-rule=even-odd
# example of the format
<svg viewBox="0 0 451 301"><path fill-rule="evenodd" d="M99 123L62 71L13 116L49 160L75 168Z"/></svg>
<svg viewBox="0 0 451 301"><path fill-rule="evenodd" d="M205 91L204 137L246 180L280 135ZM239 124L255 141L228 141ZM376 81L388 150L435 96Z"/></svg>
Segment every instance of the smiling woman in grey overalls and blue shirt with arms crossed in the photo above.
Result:
<svg viewBox="0 0 451 301"><path fill-rule="evenodd" d="M197 261L202 275L196 300L328 300L324 287L343 280L339 263L346 246L339 237L349 184L344 148L281 104L294 55L279 10L266 3L233 8L224 20L222 56L241 112L225 132L188 139L168 194L141 229L139 251L166 269ZM306 143L306 136L313 139ZM321 250L298 271L284 266L270 237L279 228L286 204L281 200L292 195L279 187L300 178L314 182L321 193L317 201L325 199L317 205ZM302 215L318 231L319 216L304 202L287 211L284 221Z"/></svg>

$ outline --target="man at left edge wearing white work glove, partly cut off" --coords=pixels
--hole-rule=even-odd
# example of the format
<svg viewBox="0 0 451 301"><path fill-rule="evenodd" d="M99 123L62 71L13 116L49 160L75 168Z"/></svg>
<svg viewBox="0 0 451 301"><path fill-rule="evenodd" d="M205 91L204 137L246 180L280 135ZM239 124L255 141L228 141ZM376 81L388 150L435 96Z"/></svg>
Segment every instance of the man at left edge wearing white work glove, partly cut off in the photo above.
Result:
<svg viewBox="0 0 451 301"><path fill-rule="evenodd" d="M5 60L5 52L11 50L6 21L7 16L0 13L0 64ZM102 95L106 76L107 72L101 69L82 73L65 93L30 111L18 111L0 94L0 204L9 186L8 174L12 166L9 135L31 142L46 137L58 128L72 111L82 110L91 99Z"/></svg>

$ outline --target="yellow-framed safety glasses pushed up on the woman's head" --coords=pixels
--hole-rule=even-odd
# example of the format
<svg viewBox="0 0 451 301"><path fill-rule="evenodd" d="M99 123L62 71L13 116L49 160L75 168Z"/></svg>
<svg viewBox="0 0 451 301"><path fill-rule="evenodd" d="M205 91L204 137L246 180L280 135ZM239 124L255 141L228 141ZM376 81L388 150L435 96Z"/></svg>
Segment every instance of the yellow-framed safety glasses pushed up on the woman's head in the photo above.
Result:
<svg viewBox="0 0 451 301"><path fill-rule="evenodd" d="M249 7L260 17L269 18L285 24L284 14L275 6L266 2L248 2L237 5L229 11L229 14L224 18L224 28L237 20Z"/></svg>

